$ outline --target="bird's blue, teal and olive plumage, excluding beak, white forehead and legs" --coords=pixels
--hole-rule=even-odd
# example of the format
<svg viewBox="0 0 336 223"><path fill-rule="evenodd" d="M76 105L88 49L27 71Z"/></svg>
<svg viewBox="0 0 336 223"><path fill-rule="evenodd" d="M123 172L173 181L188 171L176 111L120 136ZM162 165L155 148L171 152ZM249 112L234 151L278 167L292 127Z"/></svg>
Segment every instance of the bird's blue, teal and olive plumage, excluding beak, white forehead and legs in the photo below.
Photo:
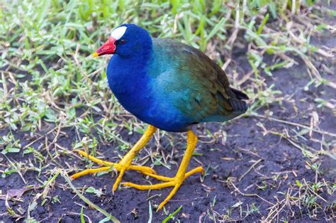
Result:
<svg viewBox="0 0 336 223"><path fill-rule="evenodd" d="M108 85L138 119L165 131L186 131L191 124L227 121L246 111L241 99L247 96L231 89L225 72L201 51L122 26L127 29L115 41Z"/></svg>

